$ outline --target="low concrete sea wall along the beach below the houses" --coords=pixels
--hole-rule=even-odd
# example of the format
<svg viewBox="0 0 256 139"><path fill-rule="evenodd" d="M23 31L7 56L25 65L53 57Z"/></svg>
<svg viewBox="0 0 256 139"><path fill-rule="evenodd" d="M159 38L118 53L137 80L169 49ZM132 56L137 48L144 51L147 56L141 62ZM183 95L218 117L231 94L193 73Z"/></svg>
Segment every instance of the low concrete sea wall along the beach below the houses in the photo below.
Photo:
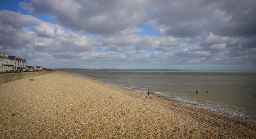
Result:
<svg viewBox="0 0 256 139"><path fill-rule="evenodd" d="M0 74L0 84L6 82L12 82L24 78L30 78L34 76L40 76L54 71L35 71L35 72L20 72L20 73L3 73Z"/></svg>

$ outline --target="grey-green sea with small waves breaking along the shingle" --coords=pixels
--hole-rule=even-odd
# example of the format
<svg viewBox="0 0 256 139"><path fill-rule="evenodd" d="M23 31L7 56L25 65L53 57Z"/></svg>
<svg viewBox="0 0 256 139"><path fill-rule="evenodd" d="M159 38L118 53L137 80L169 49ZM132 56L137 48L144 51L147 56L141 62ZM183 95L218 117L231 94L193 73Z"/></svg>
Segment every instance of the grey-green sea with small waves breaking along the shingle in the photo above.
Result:
<svg viewBox="0 0 256 139"><path fill-rule="evenodd" d="M67 72L141 93L149 90L152 95L256 123L256 72L253 71Z"/></svg>

